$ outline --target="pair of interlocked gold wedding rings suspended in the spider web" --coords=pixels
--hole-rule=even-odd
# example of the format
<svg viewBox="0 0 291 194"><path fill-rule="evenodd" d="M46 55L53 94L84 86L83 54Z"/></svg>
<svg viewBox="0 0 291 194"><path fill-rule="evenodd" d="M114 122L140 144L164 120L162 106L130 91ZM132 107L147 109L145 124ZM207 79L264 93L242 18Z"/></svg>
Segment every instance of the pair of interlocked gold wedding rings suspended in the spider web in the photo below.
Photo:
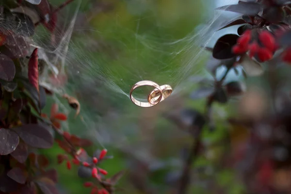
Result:
<svg viewBox="0 0 291 194"><path fill-rule="evenodd" d="M155 88L147 96L147 102L138 101L132 96L132 92L136 88L141 87L141 86L151 86ZM130 96L131 101L137 106L152 107L162 102L167 97L169 97L172 94L172 92L173 92L173 89L170 85L166 84L166 85L160 86L159 84L153 81L139 81L132 86L129 96Z"/></svg>

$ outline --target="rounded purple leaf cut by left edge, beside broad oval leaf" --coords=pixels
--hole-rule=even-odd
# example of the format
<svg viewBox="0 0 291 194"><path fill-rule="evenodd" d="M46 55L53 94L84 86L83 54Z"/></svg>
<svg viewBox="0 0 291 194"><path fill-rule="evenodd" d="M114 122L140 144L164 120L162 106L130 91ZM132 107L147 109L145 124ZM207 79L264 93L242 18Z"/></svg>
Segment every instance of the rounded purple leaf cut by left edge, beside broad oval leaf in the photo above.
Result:
<svg viewBox="0 0 291 194"><path fill-rule="evenodd" d="M18 135L10 129L0 129L0 155L13 152L19 144Z"/></svg>

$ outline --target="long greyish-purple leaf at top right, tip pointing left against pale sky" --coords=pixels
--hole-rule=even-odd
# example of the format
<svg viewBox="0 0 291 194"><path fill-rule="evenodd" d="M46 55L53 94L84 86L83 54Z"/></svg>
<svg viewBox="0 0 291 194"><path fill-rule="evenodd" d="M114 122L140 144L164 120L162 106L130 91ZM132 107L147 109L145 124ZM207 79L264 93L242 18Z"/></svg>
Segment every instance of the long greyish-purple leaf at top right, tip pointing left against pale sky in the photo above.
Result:
<svg viewBox="0 0 291 194"><path fill-rule="evenodd" d="M261 9L262 9L261 5L255 2L241 2L239 4L225 5L216 8L216 10L236 12L248 16L256 16L261 11Z"/></svg>

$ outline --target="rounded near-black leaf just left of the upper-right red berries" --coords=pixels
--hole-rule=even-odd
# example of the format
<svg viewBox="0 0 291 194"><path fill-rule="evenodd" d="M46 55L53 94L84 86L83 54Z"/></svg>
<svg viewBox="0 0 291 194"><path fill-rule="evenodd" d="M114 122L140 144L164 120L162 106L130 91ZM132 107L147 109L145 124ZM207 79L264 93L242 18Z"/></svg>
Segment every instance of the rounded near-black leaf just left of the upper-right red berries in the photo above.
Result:
<svg viewBox="0 0 291 194"><path fill-rule="evenodd" d="M235 54L232 53L232 47L236 45L238 35L236 34L226 34L222 37L220 37L212 52L212 56L215 59L230 59L235 56Z"/></svg>

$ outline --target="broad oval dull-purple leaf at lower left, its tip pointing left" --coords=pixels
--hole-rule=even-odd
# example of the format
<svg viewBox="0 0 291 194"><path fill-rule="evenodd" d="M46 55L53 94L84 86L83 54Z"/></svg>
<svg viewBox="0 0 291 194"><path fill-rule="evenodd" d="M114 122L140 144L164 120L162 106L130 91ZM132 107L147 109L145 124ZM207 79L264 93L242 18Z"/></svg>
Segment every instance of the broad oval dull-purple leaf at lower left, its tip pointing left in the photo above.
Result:
<svg viewBox="0 0 291 194"><path fill-rule="evenodd" d="M37 148L50 148L53 145L53 137L44 126L39 124L27 124L13 128L19 137L29 146Z"/></svg>

